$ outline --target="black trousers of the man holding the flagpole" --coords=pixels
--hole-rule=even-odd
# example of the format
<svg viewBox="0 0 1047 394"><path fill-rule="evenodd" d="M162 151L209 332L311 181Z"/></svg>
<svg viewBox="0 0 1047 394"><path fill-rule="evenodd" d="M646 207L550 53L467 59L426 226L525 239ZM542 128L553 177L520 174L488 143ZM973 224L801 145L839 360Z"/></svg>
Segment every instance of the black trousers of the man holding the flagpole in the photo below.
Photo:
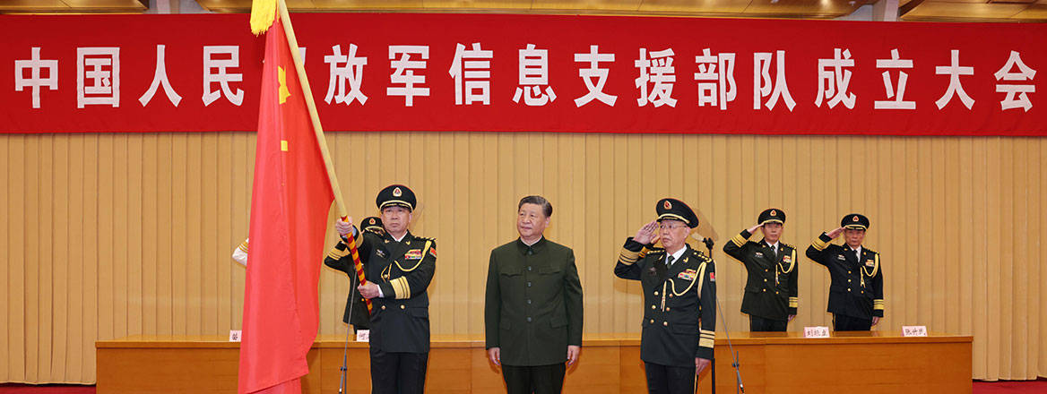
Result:
<svg viewBox="0 0 1047 394"><path fill-rule="evenodd" d="M429 353L371 349L371 394L423 394Z"/></svg>

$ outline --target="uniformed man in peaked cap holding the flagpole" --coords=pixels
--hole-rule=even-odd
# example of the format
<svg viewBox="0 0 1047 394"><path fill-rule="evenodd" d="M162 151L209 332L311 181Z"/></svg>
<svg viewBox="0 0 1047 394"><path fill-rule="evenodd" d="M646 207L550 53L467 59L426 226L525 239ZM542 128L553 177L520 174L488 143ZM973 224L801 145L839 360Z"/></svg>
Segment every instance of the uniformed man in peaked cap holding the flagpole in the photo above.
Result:
<svg viewBox="0 0 1047 394"><path fill-rule="evenodd" d="M356 238L366 277L357 291L374 304L371 392L422 394L429 358L426 288L437 269L437 244L407 231L416 206L415 193L407 186L391 185L382 189L375 203L384 235L358 231L348 222L335 224L343 241L350 233ZM352 256L338 257L341 264L352 265Z"/></svg>

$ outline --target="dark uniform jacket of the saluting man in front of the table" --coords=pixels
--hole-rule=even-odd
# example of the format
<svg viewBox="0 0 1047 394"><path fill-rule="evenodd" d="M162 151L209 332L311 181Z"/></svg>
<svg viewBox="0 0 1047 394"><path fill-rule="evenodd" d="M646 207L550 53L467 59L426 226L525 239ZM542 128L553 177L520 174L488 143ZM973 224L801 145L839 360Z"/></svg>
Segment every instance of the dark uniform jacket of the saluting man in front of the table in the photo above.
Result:
<svg viewBox="0 0 1047 394"><path fill-rule="evenodd" d="M632 240L618 257L615 275L639 280L644 293L640 358L646 363L694 367L713 358L716 334L716 270L701 252L687 250L666 268L666 252Z"/></svg>

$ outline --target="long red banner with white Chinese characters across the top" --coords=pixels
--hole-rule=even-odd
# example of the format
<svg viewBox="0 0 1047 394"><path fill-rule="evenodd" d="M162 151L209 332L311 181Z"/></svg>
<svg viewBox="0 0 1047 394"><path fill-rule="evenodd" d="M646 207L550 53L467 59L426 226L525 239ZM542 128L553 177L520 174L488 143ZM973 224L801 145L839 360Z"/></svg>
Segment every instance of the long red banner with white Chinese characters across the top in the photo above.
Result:
<svg viewBox="0 0 1047 394"><path fill-rule="evenodd" d="M292 18L329 131L1047 135L1044 24ZM247 19L0 16L0 133L257 130Z"/></svg>

